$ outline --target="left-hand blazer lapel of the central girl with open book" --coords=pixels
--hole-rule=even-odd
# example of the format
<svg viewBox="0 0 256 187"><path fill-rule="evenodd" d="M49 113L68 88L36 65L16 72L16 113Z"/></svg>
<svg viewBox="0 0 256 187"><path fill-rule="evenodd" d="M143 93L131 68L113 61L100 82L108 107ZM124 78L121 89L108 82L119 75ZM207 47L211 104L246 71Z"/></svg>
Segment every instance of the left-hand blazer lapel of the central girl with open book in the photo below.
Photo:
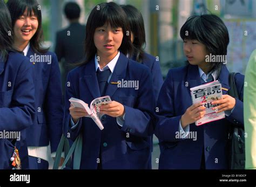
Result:
<svg viewBox="0 0 256 187"><path fill-rule="evenodd" d="M100 97L99 84L97 80L97 75L95 71L95 61L94 58L89 61L85 66L85 75L82 78L86 82L86 85L93 96L93 98Z"/></svg>

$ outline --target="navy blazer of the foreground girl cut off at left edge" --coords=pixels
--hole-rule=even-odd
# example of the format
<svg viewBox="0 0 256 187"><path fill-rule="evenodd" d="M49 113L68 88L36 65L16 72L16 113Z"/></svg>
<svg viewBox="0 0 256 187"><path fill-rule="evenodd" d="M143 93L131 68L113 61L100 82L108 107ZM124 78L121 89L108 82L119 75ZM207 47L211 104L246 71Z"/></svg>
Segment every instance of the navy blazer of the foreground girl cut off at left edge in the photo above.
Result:
<svg viewBox="0 0 256 187"><path fill-rule="evenodd" d="M35 118L35 87L33 70L28 58L9 52L8 60L0 59L0 131L22 131L33 124ZM0 138L0 169L11 169L10 158L14 147L25 145L24 133L21 140ZM28 158L28 151L19 156ZM23 163L22 168L28 168Z"/></svg>

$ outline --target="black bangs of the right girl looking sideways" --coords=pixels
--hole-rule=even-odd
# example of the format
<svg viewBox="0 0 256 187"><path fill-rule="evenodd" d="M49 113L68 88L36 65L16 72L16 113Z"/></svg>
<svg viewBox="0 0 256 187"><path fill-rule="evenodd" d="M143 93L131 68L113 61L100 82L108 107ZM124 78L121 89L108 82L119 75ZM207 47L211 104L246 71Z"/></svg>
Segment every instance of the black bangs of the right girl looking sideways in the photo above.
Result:
<svg viewBox="0 0 256 187"><path fill-rule="evenodd" d="M197 16L191 16L180 29L180 37L183 40L198 40L204 43L204 31L202 30L201 20Z"/></svg>

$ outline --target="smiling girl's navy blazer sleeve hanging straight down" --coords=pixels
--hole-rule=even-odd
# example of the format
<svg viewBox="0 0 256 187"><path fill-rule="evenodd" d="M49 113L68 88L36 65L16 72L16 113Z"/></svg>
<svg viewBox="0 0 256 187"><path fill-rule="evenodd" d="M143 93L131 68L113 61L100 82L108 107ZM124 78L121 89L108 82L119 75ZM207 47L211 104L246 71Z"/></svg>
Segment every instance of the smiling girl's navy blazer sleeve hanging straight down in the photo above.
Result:
<svg viewBox="0 0 256 187"><path fill-rule="evenodd" d="M60 82L60 71L55 54L52 55L48 88L46 90L46 119L50 132L51 152L57 150L60 137L62 136L63 102Z"/></svg>

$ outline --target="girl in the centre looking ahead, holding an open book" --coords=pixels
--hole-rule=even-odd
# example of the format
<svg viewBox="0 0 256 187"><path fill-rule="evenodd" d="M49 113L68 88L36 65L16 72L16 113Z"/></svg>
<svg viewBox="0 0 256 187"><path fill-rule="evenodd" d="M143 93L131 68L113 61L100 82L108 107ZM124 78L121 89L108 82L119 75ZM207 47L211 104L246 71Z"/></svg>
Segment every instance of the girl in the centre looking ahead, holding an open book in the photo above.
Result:
<svg viewBox="0 0 256 187"><path fill-rule="evenodd" d="M86 59L68 75L64 110L65 136L83 136L80 169L151 169L152 80L149 68L126 57L133 54L130 33L125 12L113 2L95 6L87 20ZM99 108L103 130L69 102L73 97L91 103L105 95L112 103Z"/></svg>

